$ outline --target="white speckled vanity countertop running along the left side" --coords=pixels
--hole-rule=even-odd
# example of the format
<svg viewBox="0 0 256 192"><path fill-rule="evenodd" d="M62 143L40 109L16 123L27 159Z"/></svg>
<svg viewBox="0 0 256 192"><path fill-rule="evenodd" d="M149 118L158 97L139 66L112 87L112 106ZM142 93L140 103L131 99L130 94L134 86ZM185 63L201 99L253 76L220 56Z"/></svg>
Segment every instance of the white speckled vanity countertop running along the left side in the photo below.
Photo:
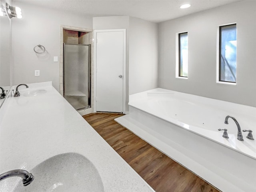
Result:
<svg viewBox="0 0 256 192"><path fill-rule="evenodd" d="M8 106L5 106L0 126L0 173L20 168L30 171L52 156L74 152L94 164L106 192L154 191L52 87L51 82L28 86L28 89L20 86L21 96L9 97ZM47 92L24 96L29 89ZM3 180L0 190L11 192L18 182L21 182L18 177Z"/></svg>

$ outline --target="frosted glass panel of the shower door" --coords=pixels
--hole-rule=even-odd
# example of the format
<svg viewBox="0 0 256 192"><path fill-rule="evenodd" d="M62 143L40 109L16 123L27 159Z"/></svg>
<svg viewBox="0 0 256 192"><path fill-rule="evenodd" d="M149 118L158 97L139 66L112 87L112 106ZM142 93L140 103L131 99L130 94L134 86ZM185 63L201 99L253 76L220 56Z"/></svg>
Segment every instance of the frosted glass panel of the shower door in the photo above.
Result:
<svg viewBox="0 0 256 192"><path fill-rule="evenodd" d="M90 44L65 44L63 96L76 109L90 108Z"/></svg>

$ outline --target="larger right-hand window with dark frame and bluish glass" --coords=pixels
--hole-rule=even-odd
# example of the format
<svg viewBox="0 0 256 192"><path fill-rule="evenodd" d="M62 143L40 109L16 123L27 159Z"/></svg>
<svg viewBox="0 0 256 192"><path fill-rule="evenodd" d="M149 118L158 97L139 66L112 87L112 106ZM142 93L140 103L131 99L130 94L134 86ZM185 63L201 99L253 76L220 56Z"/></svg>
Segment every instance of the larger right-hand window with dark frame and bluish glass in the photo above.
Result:
<svg viewBox="0 0 256 192"><path fill-rule="evenodd" d="M219 29L219 81L236 83L236 24Z"/></svg>

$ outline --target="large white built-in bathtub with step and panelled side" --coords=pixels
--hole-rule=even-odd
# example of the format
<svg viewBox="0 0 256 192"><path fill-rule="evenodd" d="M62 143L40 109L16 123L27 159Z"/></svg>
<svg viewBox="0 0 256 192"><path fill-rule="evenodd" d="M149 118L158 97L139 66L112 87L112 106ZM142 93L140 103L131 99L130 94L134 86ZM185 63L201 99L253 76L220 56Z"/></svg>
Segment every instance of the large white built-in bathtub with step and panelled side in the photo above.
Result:
<svg viewBox="0 0 256 192"><path fill-rule="evenodd" d="M131 95L116 121L224 192L256 191L256 108L157 88ZM223 138L228 129L229 138Z"/></svg>

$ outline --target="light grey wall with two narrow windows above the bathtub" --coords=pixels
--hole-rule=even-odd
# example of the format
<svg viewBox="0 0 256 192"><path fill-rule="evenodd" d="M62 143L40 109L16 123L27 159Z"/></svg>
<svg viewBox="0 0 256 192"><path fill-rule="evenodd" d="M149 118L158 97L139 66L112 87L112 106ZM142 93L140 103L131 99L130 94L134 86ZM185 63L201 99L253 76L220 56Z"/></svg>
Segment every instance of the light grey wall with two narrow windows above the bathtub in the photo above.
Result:
<svg viewBox="0 0 256 192"><path fill-rule="evenodd" d="M158 86L256 106L256 1L241 1L159 24ZM237 24L236 86L216 83L219 25ZM175 37L188 31L188 79L175 78Z"/></svg>

